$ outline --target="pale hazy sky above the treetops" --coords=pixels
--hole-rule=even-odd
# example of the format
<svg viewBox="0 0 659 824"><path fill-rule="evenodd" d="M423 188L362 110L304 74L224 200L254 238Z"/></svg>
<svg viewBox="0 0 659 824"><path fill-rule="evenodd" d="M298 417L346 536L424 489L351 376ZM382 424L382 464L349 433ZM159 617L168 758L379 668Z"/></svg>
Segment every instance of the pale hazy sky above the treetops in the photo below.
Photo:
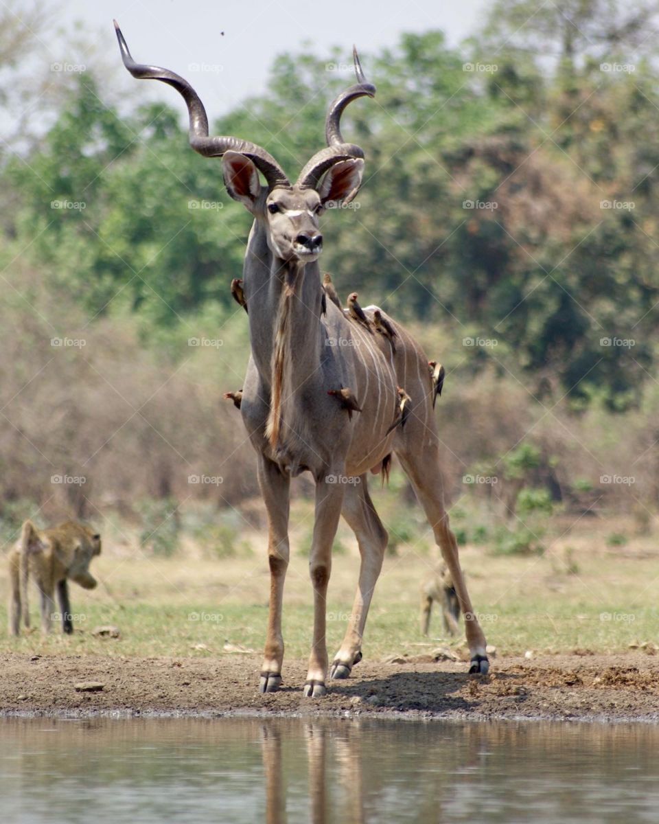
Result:
<svg viewBox="0 0 659 824"><path fill-rule="evenodd" d="M346 64L351 62L353 43L367 53L395 44L404 31L441 28L449 43L456 45L482 24L488 4L485 0L45 0L45 5L61 8L56 20L62 26L82 21L98 52L114 59L114 50L120 67L112 27L115 17L133 58L186 77L213 119L245 96L264 91L275 56L299 49L305 41L311 41L320 54L339 45ZM72 55L72 59L80 62L85 57ZM367 63L364 69L368 75ZM162 94L159 89L158 96ZM175 98L173 91L171 96Z"/></svg>

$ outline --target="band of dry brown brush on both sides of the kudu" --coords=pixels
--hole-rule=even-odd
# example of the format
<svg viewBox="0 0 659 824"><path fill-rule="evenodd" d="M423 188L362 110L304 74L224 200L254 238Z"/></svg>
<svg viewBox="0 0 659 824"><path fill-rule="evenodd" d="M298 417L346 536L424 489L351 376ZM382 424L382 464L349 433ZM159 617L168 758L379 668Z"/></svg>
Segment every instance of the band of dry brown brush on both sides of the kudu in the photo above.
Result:
<svg viewBox="0 0 659 824"><path fill-rule="evenodd" d="M258 496L254 452L240 414L222 400L223 391L241 386L245 372L244 313L236 313L222 332L183 325L143 340L135 316L90 321L74 301L55 294L22 265L3 277L0 521L5 527L35 515L100 522L110 511L138 520L149 501L181 508L244 504L245 517L258 520L249 510ZM432 330L418 331L422 339L426 333L432 339L428 351L444 349ZM222 336L224 345L188 345L190 336L203 334ZM84 345L53 346L54 338L80 339ZM654 386L640 409L617 415L596 404L578 414L566 400L542 405L523 380L493 370L469 378L451 372L447 387L437 419L449 500L470 491L510 512L520 485L505 476L506 456L529 442L540 451L540 463L526 480L549 489L566 507L657 507L659 391ZM464 475L478 470L497 475L498 484L466 490ZM54 483L58 475L85 482ZM190 483L190 476L206 482ZM607 483L602 480L607 476L633 482ZM296 489L311 494L311 483L299 482Z"/></svg>

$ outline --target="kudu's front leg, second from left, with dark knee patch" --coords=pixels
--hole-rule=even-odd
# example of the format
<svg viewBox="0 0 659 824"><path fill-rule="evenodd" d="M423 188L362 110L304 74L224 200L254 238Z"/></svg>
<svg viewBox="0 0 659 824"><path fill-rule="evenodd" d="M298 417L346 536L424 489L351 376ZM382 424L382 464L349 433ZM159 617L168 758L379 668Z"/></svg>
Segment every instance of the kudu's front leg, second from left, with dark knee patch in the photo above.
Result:
<svg viewBox="0 0 659 824"><path fill-rule="evenodd" d="M325 478L343 479L344 475L336 472ZM314 639L309 657L309 671L306 674L304 694L307 698L319 698L327 692L327 639L325 638L325 621L327 611L327 587L330 583L332 569L332 543L339 526L341 506L344 500L344 484L328 483L321 478L315 484L315 523L314 536L311 541L309 556L309 573L314 589Z"/></svg>

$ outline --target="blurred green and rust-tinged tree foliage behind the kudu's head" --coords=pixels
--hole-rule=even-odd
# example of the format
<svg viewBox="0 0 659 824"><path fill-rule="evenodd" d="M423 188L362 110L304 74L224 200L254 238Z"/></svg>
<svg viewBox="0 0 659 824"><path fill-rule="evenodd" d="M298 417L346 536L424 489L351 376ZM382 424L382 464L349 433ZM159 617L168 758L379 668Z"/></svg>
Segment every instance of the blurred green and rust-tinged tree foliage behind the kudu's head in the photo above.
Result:
<svg viewBox="0 0 659 824"><path fill-rule="evenodd" d="M344 134L364 148L367 175L354 208L331 210L324 226L323 267L339 293L493 340L465 349L463 372L493 363L537 382L539 398L567 393L577 410L638 403L659 300L649 21L645 3L499 0L470 43L473 63L491 70L465 71L440 31L362 55L377 99L349 107ZM633 71L601 70L625 54ZM212 132L261 143L294 178L348 82L328 78L327 58L283 54L267 91ZM231 306L250 223L221 163L189 148L180 99L160 91L164 105L119 113L86 72L29 162L0 167L7 260L25 253L92 316L139 312L149 336ZM602 343L631 330L633 344ZM507 459L510 476L530 458Z"/></svg>

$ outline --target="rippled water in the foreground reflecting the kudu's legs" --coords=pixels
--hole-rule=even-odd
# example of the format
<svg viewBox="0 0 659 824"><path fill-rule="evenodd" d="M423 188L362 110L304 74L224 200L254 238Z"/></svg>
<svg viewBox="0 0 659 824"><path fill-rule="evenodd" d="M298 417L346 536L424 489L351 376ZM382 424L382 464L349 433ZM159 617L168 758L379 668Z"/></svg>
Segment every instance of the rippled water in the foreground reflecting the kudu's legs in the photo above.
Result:
<svg viewBox="0 0 659 824"><path fill-rule="evenodd" d="M0 721L0 821L657 822L659 727Z"/></svg>

